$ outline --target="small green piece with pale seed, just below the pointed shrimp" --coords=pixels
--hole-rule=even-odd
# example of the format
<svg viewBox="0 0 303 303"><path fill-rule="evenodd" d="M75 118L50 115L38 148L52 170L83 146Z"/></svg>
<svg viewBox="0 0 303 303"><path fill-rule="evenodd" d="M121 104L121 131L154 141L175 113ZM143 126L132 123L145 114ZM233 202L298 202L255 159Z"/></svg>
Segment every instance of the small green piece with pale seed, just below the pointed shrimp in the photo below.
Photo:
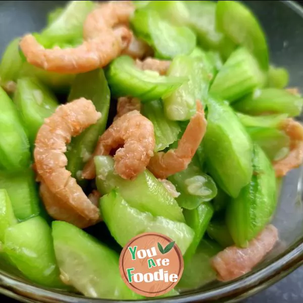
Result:
<svg viewBox="0 0 303 303"><path fill-rule="evenodd" d="M185 170L169 176L168 179L181 193L176 198L179 206L188 210L210 201L217 194L214 180L200 169L196 161L192 161Z"/></svg>

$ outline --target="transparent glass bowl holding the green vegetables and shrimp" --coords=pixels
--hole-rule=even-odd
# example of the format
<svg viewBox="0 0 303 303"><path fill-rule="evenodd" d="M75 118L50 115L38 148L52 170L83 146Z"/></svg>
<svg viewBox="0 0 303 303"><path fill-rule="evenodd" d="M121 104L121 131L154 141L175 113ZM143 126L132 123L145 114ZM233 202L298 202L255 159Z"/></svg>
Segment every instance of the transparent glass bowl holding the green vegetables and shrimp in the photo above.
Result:
<svg viewBox="0 0 303 303"><path fill-rule="evenodd" d="M46 13L65 1L1 1L1 51L14 37L44 26ZM303 10L291 1L244 1L259 17L268 37L271 62L286 67L290 86L303 90ZM177 297L155 299L166 302L235 302L277 282L303 263L302 167L284 178L280 202L273 218L280 242L249 274L229 283L214 282ZM110 300L85 298L46 289L18 277L0 263L0 293L25 302L90 303ZM137 301L139 302L139 301Z"/></svg>

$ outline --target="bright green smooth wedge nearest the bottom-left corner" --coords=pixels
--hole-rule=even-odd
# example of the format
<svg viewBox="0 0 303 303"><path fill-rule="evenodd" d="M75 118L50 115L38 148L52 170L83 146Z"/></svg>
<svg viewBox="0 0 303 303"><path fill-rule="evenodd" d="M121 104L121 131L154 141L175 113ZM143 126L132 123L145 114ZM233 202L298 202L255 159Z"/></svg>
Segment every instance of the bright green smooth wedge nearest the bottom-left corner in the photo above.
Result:
<svg viewBox="0 0 303 303"><path fill-rule="evenodd" d="M5 233L4 251L18 269L35 283L66 288L59 277L51 228L41 217L9 227Z"/></svg>

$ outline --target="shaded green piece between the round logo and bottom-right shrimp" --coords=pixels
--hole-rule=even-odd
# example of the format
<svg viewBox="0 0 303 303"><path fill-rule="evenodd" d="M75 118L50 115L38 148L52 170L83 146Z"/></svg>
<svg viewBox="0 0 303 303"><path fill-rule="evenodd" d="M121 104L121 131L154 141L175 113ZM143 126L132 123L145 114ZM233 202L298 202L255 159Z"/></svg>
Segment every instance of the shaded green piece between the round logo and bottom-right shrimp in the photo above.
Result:
<svg viewBox="0 0 303 303"><path fill-rule="evenodd" d="M211 266L211 259L221 250L222 247L216 242L202 239L192 259L185 263L177 288L192 290L216 280L217 273Z"/></svg>

